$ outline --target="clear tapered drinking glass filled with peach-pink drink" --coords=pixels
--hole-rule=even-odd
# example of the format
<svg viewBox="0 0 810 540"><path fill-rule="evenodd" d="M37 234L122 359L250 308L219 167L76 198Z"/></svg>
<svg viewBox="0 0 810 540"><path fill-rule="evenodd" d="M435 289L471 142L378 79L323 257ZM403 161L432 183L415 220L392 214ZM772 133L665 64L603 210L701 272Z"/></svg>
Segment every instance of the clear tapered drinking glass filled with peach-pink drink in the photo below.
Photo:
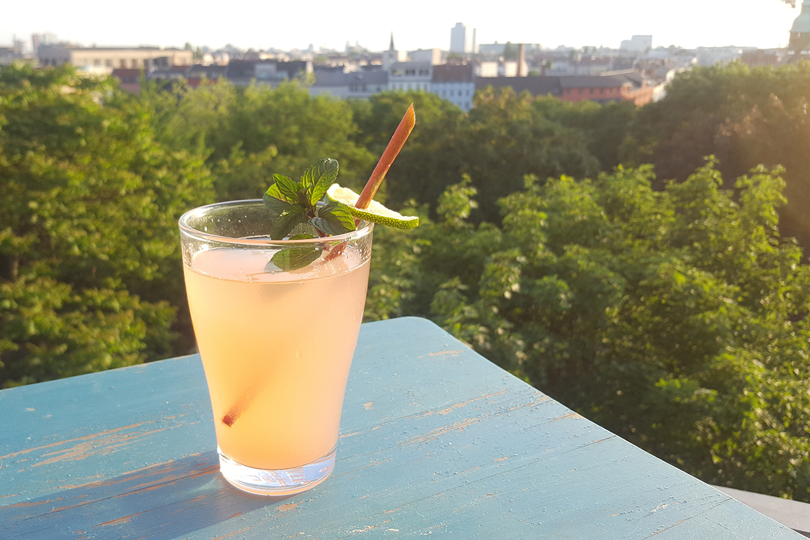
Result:
<svg viewBox="0 0 810 540"><path fill-rule="evenodd" d="M214 411L220 471L259 495L290 495L335 466L340 412L363 318L373 225L271 240L261 200L180 219L191 319ZM313 233L308 224L292 235ZM313 261L297 270L273 257ZM280 266L280 267L279 267Z"/></svg>

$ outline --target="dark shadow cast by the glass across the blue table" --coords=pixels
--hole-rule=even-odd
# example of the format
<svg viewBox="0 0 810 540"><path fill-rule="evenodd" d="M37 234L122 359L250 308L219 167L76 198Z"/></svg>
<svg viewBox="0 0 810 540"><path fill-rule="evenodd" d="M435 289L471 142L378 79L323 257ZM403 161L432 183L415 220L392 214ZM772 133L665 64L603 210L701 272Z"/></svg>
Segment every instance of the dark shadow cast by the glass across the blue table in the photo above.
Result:
<svg viewBox="0 0 810 540"><path fill-rule="evenodd" d="M217 453L209 452L66 486L42 499L0 506L0 537L182 538L283 499L239 491L219 471Z"/></svg>

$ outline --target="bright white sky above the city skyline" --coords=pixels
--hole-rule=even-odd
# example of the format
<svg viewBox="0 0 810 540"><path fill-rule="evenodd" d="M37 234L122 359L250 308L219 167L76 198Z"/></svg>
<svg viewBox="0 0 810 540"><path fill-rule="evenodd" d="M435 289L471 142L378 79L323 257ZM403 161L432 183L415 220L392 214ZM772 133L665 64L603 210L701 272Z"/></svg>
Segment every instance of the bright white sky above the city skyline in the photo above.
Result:
<svg viewBox="0 0 810 540"><path fill-rule="evenodd" d="M79 45L163 45L254 49L343 50L347 42L400 50L449 49L450 28L475 28L478 43L539 43L617 48L621 40L653 36L653 46L787 45L800 7L782 0L512 0L497 2L380 2L352 0L241 0L109 2L57 0L3 2L0 46L12 36L52 32ZM801 0L799 0L799 4ZM461 6L461 7L459 7ZM482 6L482 7L477 7ZM501 7L502 6L502 7Z"/></svg>

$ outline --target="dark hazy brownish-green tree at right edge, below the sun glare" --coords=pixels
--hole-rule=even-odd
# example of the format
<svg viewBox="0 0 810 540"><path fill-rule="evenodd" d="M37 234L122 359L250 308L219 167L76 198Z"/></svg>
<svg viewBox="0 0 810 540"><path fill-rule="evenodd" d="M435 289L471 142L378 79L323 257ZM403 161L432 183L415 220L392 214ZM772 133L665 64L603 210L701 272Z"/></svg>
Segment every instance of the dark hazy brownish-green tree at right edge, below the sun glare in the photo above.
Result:
<svg viewBox="0 0 810 540"><path fill-rule="evenodd" d="M706 155L723 176L757 164L785 167L782 233L810 247L810 64L749 68L739 63L680 74L658 103L643 107L622 149L627 164L653 163L656 185L683 181ZM725 186L732 188L733 184Z"/></svg>

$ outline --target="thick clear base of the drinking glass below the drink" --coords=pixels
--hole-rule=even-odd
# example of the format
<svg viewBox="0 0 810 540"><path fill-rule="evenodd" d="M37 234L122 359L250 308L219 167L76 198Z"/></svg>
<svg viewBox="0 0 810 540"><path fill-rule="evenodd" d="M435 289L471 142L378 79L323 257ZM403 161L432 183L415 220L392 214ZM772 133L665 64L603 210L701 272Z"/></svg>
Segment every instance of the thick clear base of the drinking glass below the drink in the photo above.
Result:
<svg viewBox="0 0 810 540"><path fill-rule="evenodd" d="M242 491L256 495L293 495L322 483L335 469L335 449L312 463L292 469L254 469L220 454L220 472L228 482Z"/></svg>

